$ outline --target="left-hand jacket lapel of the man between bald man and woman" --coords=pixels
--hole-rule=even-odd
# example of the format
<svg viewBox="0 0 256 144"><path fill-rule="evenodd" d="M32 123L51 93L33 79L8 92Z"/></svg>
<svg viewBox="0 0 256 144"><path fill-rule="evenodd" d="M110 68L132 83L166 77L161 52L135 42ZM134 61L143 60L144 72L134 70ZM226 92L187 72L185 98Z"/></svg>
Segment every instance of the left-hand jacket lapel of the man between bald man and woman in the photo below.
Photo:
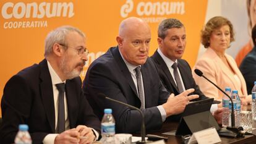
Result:
<svg viewBox="0 0 256 144"><path fill-rule="evenodd" d="M161 69L163 70L166 77L168 77L169 82L171 82L171 85L173 85L173 88L176 91L179 91L176 83L173 80L173 77L171 76L171 72L169 71L168 67L166 66L165 62L163 61L163 58L160 56L160 54L157 51L155 51L155 54L153 56L156 57L157 64L161 67Z"/></svg>

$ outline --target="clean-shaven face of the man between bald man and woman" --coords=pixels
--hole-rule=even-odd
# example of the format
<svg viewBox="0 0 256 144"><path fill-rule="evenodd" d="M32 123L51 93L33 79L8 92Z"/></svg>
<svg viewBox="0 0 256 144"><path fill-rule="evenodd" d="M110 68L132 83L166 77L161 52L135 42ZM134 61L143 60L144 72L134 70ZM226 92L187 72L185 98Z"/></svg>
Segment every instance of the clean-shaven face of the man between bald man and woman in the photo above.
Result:
<svg viewBox="0 0 256 144"><path fill-rule="evenodd" d="M161 52L172 61L181 59L186 48L185 27L169 28L165 33L164 39L158 37L158 46Z"/></svg>

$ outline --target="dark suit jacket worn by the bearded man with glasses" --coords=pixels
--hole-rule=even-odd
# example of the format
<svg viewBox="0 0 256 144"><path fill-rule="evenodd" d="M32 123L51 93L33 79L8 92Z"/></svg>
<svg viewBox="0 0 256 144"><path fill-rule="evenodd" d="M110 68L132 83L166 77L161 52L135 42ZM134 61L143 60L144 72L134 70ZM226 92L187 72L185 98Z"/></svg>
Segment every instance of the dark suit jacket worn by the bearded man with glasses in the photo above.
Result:
<svg viewBox="0 0 256 144"><path fill-rule="evenodd" d="M87 125L100 132L100 121L81 86L80 77L66 80L70 129ZM28 125L33 143L42 143L48 133L55 133L53 85L45 59L23 69L6 83L1 108L1 143L14 143L19 124Z"/></svg>

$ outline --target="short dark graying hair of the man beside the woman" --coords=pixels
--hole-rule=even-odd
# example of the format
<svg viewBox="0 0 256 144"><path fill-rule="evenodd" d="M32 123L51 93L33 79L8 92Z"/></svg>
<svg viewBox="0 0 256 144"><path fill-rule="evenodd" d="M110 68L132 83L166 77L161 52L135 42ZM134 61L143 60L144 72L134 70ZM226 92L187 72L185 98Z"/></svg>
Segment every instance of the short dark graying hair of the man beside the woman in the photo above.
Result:
<svg viewBox="0 0 256 144"><path fill-rule="evenodd" d="M170 28L181 28L184 27L183 23L177 19L165 19L158 26L158 37L164 39L166 36L166 30Z"/></svg>

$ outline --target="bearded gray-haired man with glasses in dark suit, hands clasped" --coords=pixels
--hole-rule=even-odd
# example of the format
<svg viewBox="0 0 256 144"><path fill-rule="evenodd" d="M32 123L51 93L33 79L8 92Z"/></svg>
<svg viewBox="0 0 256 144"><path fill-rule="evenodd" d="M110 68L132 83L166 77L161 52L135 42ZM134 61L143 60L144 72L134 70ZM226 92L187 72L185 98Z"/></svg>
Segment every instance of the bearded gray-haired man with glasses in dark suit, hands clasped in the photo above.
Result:
<svg viewBox="0 0 256 144"><path fill-rule="evenodd" d="M79 77L87 54L85 36L77 28L59 27L48 34L45 59L4 87L1 143L14 143L19 124L28 125L33 143L92 143L98 138L100 121Z"/></svg>

